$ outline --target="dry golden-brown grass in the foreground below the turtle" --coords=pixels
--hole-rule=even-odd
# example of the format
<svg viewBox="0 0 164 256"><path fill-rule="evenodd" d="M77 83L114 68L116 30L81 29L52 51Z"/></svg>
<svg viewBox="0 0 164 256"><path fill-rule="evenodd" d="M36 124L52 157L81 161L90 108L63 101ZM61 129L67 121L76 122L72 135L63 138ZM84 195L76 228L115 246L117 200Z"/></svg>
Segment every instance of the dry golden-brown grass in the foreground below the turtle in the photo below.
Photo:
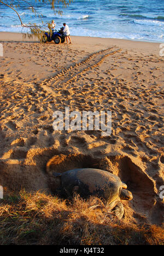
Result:
<svg viewBox="0 0 164 256"><path fill-rule="evenodd" d="M0 201L1 245L163 245L159 226L118 220L103 202L10 194Z"/></svg>

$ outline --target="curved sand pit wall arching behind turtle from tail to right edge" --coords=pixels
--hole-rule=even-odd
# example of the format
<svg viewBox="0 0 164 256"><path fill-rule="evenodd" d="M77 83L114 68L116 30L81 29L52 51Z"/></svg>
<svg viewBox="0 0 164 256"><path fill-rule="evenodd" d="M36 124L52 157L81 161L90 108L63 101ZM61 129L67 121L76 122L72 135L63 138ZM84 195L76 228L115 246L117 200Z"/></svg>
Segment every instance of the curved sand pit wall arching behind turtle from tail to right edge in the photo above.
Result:
<svg viewBox="0 0 164 256"><path fill-rule="evenodd" d="M138 165L137 165L138 164ZM157 202L157 189L155 182L147 173L144 172L142 162L137 164L123 155L104 156L104 158L93 155L68 154L55 155L46 164L46 172L65 172L73 168L101 168L117 174L123 182L128 185L128 189L133 193L133 201L130 202L131 208L135 211L135 216L140 219L149 219L157 223L162 223L162 205ZM87 177L86 177L87 179ZM53 183L52 183L53 184ZM54 189L55 189L54 178ZM55 190L54 190L55 191ZM155 214L156 212L156 214Z"/></svg>

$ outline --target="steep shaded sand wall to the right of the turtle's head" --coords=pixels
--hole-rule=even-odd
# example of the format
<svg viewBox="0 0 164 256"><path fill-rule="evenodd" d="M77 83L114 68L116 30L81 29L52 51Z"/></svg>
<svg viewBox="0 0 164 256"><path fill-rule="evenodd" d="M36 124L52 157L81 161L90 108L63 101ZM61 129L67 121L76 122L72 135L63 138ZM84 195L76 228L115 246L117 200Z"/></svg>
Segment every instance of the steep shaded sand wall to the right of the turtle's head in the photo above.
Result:
<svg viewBox="0 0 164 256"><path fill-rule="evenodd" d="M156 197L155 183L139 165L139 162L138 165L134 164L128 156L122 156L118 160L118 176L133 194L131 207L137 214L137 218L148 218L151 223L160 225L163 219L163 208Z"/></svg>

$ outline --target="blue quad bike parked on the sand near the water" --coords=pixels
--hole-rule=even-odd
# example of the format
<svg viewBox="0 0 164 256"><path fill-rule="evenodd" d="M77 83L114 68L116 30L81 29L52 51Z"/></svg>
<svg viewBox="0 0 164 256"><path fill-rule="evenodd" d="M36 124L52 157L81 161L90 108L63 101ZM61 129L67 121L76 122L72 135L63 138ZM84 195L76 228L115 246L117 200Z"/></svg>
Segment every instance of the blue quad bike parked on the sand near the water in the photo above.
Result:
<svg viewBox="0 0 164 256"><path fill-rule="evenodd" d="M62 28L57 31L53 31L52 33L50 32L45 32L42 36L42 42L46 43L46 42L51 42L54 41L55 44L60 44L60 43L64 43L65 42L65 33L62 32Z"/></svg>

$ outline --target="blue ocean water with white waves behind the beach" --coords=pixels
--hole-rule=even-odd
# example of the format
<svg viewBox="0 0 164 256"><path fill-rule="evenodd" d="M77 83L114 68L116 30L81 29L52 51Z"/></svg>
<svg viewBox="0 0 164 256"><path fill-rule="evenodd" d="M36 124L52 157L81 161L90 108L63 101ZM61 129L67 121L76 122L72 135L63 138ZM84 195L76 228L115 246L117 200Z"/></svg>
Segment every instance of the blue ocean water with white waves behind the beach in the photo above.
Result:
<svg viewBox="0 0 164 256"><path fill-rule="evenodd" d="M45 23L54 19L56 29L66 22L72 36L164 42L164 0L73 0L63 9L62 16L54 15L45 4L36 4L34 0L28 2L43 14ZM25 24L40 24L25 4L17 10ZM1 3L0 31L27 31L22 29L14 11Z"/></svg>

